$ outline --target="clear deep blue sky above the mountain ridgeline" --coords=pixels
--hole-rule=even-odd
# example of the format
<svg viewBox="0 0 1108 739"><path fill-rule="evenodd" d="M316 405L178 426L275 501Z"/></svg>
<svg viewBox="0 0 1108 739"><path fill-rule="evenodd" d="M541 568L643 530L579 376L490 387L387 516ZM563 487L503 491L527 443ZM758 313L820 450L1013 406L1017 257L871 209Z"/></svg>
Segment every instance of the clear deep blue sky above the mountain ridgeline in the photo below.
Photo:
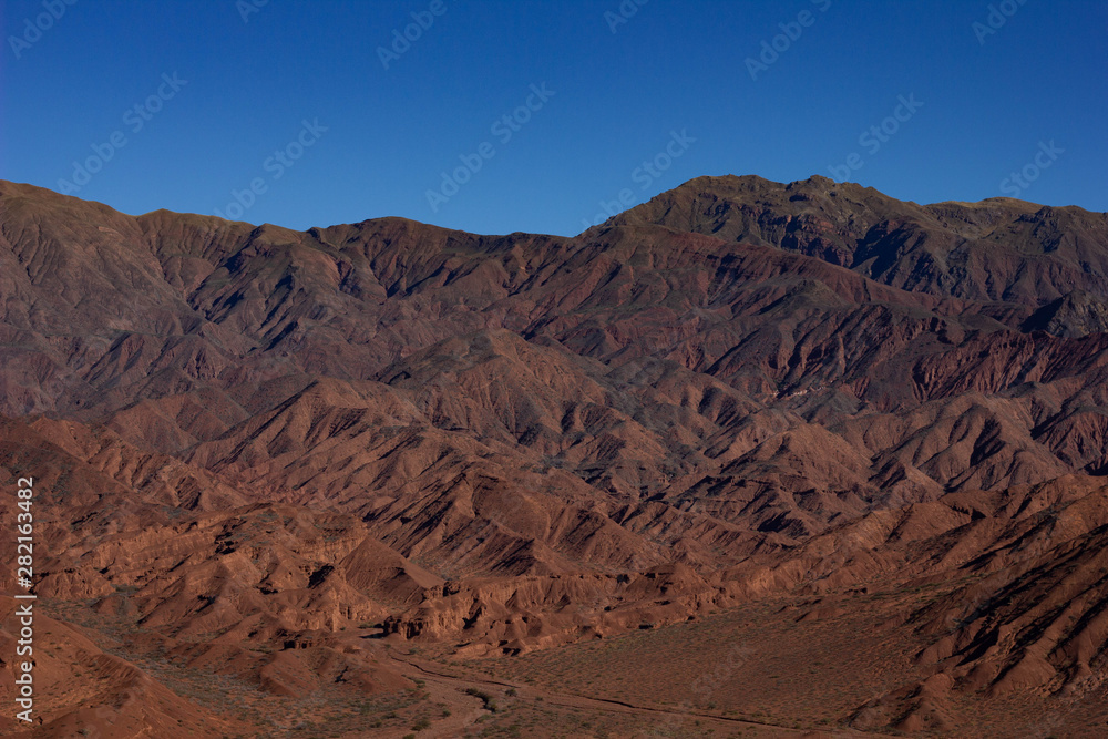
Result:
<svg viewBox="0 0 1108 739"><path fill-rule="evenodd" d="M902 199L1108 211L1102 1L995 2L995 29L970 0L624 0L626 19L619 0L439 2L8 0L0 177L86 178L73 194L131 214L571 235L602 202L704 174L842 179L856 154L845 178ZM396 54L413 12L433 23ZM481 168L443 189L466 155ZM249 207L228 208L235 191Z"/></svg>

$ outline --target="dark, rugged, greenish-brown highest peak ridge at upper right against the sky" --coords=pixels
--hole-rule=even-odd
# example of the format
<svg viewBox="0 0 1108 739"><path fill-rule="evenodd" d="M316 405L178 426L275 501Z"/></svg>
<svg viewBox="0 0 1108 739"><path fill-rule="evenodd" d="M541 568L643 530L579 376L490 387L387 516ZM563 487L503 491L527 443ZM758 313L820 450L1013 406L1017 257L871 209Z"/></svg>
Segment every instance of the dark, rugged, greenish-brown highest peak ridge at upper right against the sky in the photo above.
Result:
<svg viewBox="0 0 1108 739"><path fill-rule="evenodd" d="M1075 291L1108 298L1108 215L1074 206L916 205L821 176L698 177L609 223L777 246L930 295L1036 307Z"/></svg>

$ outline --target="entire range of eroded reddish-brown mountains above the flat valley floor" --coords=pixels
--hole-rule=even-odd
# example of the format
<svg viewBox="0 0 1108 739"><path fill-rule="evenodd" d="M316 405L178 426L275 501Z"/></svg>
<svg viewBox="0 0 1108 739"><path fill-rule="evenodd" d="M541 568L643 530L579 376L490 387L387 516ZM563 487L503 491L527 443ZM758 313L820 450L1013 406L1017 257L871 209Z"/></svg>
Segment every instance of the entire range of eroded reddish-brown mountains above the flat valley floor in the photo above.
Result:
<svg viewBox="0 0 1108 739"><path fill-rule="evenodd" d="M1092 720L1105 214L701 177L574 238L293 232L0 182L0 482L35 476L42 607L107 670L42 736L195 736L188 701L280 736L338 719L278 697L419 695L393 645L500 664L767 604L818 629L874 593L903 679L774 721ZM420 700L392 714L463 736Z"/></svg>

